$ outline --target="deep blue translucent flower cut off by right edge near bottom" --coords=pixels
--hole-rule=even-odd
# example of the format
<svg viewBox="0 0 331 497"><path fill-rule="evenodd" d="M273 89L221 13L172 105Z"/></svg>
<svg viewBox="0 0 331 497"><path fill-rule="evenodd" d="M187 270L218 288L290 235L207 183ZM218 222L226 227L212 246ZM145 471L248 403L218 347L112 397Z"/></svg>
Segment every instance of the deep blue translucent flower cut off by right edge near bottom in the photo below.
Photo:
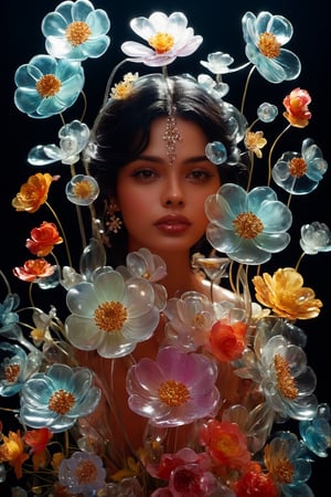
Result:
<svg viewBox="0 0 331 497"><path fill-rule="evenodd" d="M312 420L299 423L300 435L307 447L319 457L328 457L331 447L331 410L328 404L319 404Z"/></svg>

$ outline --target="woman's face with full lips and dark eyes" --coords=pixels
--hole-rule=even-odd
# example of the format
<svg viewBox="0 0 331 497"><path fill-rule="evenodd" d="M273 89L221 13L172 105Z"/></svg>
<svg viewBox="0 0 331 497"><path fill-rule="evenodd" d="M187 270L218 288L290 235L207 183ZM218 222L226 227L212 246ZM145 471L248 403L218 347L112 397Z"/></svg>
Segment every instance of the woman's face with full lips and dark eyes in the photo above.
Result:
<svg viewBox="0 0 331 497"><path fill-rule="evenodd" d="M189 251L206 229L204 201L221 186L216 166L205 157L209 140L201 128L177 119L180 139L172 162L167 124L167 117L152 123L149 145L118 173L116 200L130 252L142 246L158 254Z"/></svg>

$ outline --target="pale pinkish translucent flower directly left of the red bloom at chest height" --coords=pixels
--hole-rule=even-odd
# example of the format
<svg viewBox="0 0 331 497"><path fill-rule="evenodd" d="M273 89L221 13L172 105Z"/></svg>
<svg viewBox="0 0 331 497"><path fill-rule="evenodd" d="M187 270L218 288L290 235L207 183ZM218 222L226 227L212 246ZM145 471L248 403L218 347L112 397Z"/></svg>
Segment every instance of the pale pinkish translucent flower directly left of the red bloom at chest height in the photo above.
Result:
<svg viewBox="0 0 331 497"><path fill-rule="evenodd" d="M169 319L164 329L167 343L186 351L195 351L209 340L216 319L212 302L197 292L185 292L180 298L170 298L164 315Z"/></svg>

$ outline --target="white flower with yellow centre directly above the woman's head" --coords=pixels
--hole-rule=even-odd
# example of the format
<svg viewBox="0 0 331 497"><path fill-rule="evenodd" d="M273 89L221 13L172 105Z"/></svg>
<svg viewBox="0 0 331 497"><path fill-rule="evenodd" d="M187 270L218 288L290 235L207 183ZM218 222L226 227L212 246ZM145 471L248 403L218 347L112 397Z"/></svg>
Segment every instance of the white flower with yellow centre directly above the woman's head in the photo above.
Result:
<svg viewBox="0 0 331 497"><path fill-rule="evenodd" d="M194 35L188 28L188 19L182 12L153 12L149 18L135 18L130 27L142 43L128 41L121 44L122 52L131 62L142 62L148 66L171 64L178 56L191 55L202 43L202 36Z"/></svg>

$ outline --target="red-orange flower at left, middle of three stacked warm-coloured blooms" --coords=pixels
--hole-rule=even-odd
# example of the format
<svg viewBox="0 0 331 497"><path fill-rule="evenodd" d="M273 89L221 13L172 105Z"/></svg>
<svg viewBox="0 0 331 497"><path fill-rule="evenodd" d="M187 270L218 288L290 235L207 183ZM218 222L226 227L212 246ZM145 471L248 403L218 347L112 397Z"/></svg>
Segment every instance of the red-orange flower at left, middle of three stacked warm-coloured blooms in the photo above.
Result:
<svg viewBox="0 0 331 497"><path fill-rule="evenodd" d="M31 239L26 240L26 248L39 257L49 255L54 245L63 242L60 236L57 228L54 223L44 221L39 228L34 228L31 233Z"/></svg>

